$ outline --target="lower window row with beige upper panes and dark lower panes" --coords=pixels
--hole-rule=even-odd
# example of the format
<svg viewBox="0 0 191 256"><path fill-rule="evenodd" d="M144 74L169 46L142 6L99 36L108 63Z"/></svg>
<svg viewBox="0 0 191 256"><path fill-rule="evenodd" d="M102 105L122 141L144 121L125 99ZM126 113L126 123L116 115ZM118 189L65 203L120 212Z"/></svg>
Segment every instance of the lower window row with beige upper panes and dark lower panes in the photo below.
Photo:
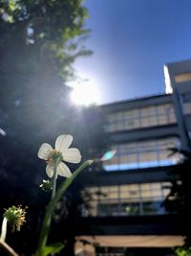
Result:
<svg viewBox="0 0 191 256"><path fill-rule="evenodd" d="M91 195L87 216L128 216L164 214L162 201L169 193L169 182L100 186L87 188L84 195Z"/></svg>

